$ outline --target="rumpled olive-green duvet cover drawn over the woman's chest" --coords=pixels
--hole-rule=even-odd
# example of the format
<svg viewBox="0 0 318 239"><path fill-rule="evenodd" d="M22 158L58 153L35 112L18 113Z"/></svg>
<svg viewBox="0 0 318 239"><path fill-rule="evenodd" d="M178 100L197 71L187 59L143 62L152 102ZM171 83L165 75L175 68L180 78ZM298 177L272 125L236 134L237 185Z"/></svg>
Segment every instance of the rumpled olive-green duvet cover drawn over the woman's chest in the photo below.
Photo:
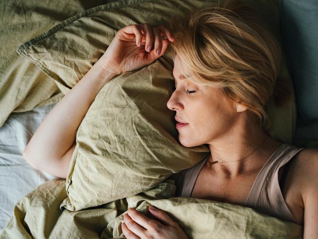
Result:
<svg viewBox="0 0 318 239"><path fill-rule="evenodd" d="M104 205L71 212L60 204L67 196L65 180L51 180L23 197L0 239L119 239L123 215L128 208L154 219L148 212L153 205L165 211L191 239L295 239L302 227L228 203L192 197L174 197L173 179L134 196Z"/></svg>

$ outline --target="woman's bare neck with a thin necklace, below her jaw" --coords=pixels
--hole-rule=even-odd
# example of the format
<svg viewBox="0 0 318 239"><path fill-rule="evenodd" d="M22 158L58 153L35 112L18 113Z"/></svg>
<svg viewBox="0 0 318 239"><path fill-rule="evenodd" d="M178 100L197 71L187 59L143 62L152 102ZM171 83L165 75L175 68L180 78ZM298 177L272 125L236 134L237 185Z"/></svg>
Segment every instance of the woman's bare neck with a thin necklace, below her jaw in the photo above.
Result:
<svg viewBox="0 0 318 239"><path fill-rule="evenodd" d="M259 171L281 144L256 124L237 127L209 143L211 155L206 167L216 177L243 176Z"/></svg>

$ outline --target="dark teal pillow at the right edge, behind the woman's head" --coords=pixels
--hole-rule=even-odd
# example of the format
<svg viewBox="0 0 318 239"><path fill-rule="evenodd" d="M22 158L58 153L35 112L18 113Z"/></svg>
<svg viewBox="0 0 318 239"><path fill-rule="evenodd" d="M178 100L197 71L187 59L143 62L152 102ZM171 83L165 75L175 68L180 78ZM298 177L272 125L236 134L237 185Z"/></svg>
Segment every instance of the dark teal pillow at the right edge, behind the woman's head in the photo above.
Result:
<svg viewBox="0 0 318 239"><path fill-rule="evenodd" d="M295 84L297 125L293 143L318 147L318 1L279 0L288 68Z"/></svg>

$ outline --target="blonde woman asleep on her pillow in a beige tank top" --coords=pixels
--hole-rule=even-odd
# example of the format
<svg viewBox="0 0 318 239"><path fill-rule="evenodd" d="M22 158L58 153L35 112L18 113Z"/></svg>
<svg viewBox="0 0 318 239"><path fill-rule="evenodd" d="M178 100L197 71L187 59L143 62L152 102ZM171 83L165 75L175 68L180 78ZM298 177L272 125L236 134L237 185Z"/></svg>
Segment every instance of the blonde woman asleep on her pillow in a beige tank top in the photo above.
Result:
<svg viewBox="0 0 318 239"><path fill-rule="evenodd" d="M76 131L95 96L114 76L135 71L174 52L178 140L185 147L207 144L210 154L172 175L177 196L251 207L304 225L304 238L318 237L318 149L298 148L265 131L265 105L290 100L277 79L281 51L275 38L239 2L192 11L165 26L121 28L102 57L57 103L24 149L33 167L66 178ZM45 163L43 162L45 158ZM165 212L158 220L130 208L122 230L129 239L187 238Z"/></svg>

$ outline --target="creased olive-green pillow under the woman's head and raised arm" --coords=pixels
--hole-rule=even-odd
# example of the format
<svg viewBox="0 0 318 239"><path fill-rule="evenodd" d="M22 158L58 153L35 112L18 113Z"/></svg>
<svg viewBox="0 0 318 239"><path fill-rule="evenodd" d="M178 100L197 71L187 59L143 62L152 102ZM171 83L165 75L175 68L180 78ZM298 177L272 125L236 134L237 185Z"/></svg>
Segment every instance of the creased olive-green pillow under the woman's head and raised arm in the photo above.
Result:
<svg viewBox="0 0 318 239"><path fill-rule="evenodd" d="M102 56L120 28L139 23L166 25L190 8L210 0L124 0L91 8L26 42L18 52L53 78L65 94ZM272 25L277 36L277 1L247 0ZM274 24L273 24L274 23ZM171 48L153 64L109 81L91 104L76 134L61 206L89 208L137 194L172 173L193 167L209 152L207 145L184 147L177 139L173 111L167 106L174 87ZM282 75L286 75L285 64ZM287 73L288 75L288 73ZM294 101L278 109L270 101L270 134L290 142Z"/></svg>

